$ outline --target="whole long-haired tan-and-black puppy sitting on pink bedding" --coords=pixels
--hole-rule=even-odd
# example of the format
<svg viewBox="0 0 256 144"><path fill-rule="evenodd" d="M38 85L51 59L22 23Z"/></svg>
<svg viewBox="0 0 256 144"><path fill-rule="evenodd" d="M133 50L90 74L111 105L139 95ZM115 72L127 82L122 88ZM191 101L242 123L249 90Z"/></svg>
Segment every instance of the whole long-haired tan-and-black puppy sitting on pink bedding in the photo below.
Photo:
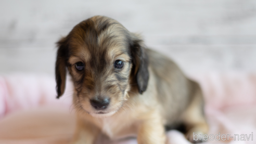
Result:
<svg viewBox="0 0 256 144"><path fill-rule="evenodd" d="M74 83L72 143L92 144L105 135L163 144L165 127L179 125L191 142L198 142L193 133L207 134L199 85L116 20L84 20L57 44L57 98L65 90L67 70Z"/></svg>

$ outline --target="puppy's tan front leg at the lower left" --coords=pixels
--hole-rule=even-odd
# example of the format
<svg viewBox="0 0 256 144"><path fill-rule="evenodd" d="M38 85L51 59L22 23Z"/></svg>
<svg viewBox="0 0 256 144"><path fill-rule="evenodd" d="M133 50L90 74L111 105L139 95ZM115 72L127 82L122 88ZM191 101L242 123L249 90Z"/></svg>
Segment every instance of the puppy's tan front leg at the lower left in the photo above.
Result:
<svg viewBox="0 0 256 144"><path fill-rule="evenodd" d="M93 144L100 130L91 123L88 123L82 118L77 119L75 134L72 144Z"/></svg>

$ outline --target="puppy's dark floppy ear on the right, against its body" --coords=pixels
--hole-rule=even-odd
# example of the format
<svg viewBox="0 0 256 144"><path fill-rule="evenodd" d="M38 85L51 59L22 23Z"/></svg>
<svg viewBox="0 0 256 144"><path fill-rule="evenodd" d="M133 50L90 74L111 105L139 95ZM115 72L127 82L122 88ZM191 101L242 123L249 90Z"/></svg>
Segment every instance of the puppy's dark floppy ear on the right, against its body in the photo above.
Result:
<svg viewBox="0 0 256 144"><path fill-rule="evenodd" d="M134 38L131 44L131 53L133 57L134 74L138 86L139 94L147 89L149 73L148 73L148 55L144 48L143 41Z"/></svg>

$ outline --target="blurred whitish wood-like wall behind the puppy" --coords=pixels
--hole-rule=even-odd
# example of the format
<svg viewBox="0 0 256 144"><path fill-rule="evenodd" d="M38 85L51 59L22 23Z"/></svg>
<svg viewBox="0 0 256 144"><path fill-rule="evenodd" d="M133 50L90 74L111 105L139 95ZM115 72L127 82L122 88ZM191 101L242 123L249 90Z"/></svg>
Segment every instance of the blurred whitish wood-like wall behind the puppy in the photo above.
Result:
<svg viewBox="0 0 256 144"><path fill-rule="evenodd" d="M0 74L54 76L55 42L95 15L118 20L187 73L256 71L255 0L0 1Z"/></svg>

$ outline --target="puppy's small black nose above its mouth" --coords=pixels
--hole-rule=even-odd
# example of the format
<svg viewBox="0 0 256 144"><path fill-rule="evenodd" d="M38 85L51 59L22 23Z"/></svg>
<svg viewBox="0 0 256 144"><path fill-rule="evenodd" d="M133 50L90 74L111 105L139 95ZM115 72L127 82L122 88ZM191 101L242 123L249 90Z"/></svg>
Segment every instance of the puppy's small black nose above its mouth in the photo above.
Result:
<svg viewBox="0 0 256 144"><path fill-rule="evenodd" d="M109 101L109 98L96 98L92 99L90 102L96 110L104 110L108 107Z"/></svg>

